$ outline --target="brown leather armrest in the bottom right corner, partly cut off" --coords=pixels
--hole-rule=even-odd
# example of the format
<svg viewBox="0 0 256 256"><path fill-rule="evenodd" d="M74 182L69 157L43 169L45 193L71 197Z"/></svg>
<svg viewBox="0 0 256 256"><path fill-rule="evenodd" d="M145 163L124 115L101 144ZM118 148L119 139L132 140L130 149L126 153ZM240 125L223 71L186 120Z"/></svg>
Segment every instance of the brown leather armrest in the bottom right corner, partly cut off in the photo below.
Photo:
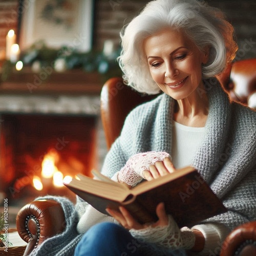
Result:
<svg viewBox="0 0 256 256"><path fill-rule="evenodd" d="M256 255L256 221L245 223L231 231L223 242L220 255Z"/></svg>

